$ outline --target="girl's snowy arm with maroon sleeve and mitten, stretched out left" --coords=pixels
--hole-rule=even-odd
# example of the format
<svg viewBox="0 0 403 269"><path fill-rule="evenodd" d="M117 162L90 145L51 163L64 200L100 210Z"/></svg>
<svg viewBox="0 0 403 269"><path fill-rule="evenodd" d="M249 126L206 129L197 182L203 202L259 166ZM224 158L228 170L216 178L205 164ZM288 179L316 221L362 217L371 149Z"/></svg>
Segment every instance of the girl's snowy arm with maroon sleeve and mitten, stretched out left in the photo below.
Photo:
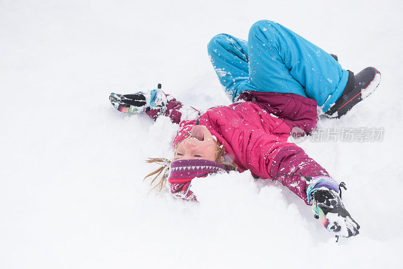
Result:
<svg viewBox="0 0 403 269"><path fill-rule="evenodd" d="M157 89L151 91L124 95L111 93L109 100L113 107L120 112L132 114L146 112L154 120L163 115L169 117L173 123L178 124L182 120L182 116L188 117L191 114L197 118L200 114L193 107L183 105L173 96L165 94L161 90L161 84L158 85Z"/></svg>

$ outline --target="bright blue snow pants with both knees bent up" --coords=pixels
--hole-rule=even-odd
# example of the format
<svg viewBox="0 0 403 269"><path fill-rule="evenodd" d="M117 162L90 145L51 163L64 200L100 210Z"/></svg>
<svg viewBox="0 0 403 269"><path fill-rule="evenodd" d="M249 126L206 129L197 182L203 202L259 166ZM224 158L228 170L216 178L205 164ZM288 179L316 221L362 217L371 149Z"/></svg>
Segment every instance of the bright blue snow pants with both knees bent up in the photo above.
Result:
<svg viewBox="0 0 403 269"><path fill-rule="evenodd" d="M244 91L294 93L316 100L326 112L349 78L330 54L273 21L254 23L248 41L216 35L208 52L233 102Z"/></svg>

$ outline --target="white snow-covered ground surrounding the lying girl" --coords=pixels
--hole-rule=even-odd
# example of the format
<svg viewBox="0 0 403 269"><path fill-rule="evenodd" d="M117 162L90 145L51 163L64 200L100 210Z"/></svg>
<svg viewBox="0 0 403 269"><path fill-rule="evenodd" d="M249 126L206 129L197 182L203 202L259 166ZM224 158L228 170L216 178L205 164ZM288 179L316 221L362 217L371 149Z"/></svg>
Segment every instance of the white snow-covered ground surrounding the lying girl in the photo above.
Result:
<svg viewBox="0 0 403 269"><path fill-rule="evenodd" d="M0 1L0 268L397 268L403 246L400 1ZM147 157L177 126L124 115L110 92L162 83L200 109L229 104L206 45L257 20L291 28L378 90L321 128L384 128L382 142L299 143L348 190L360 223L335 238L276 182L194 183L199 204L147 195ZM212 187L214 185L214 188Z"/></svg>

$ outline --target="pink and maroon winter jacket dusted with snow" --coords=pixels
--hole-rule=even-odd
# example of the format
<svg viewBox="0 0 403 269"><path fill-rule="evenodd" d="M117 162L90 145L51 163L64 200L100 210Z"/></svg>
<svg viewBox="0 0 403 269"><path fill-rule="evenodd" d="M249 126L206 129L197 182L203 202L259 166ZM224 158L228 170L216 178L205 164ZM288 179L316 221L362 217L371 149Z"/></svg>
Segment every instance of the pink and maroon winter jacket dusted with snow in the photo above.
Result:
<svg viewBox="0 0 403 269"><path fill-rule="evenodd" d="M198 124L206 126L225 146L225 155L233 160L239 171L250 170L261 178L272 178L278 173L305 176L328 175L315 161L293 143L287 143L293 127L310 133L317 120L316 101L295 94L243 93L245 102L210 108L203 114L194 113L191 120L182 120L182 104L167 96L167 111L179 131L176 146ZM196 111L196 110L194 110ZM198 111L197 111L198 112ZM159 111L147 111L156 118ZM197 117L198 115L198 117ZM304 199L306 182L302 177L278 176L275 178Z"/></svg>

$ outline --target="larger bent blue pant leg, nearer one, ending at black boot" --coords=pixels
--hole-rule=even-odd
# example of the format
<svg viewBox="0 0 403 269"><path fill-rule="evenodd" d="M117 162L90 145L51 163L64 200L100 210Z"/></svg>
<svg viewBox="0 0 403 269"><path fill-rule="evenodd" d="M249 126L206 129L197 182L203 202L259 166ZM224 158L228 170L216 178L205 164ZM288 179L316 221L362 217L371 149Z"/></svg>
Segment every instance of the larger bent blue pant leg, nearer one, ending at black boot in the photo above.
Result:
<svg viewBox="0 0 403 269"><path fill-rule="evenodd" d="M252 25L248 38L250 83L259 91L306 96L323 111L343 93L348 72L293 31L262 20Z"/></svg>

